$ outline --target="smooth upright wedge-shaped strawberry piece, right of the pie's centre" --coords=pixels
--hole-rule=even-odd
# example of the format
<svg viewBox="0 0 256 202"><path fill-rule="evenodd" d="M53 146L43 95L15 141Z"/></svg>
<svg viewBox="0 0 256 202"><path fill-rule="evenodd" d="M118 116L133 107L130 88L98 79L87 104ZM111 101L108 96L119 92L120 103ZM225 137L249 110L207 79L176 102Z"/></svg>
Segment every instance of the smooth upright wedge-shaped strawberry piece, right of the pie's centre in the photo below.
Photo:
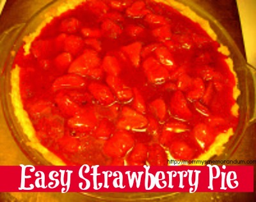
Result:
<svg viewBox="0 0 256 202"><path fill-rule="evenodd" d="M173 116L177 116L177 118L182 120L189 120L193 115L188 107L188 102L181 91L173 93L170 102L170 111Z"/></svg>

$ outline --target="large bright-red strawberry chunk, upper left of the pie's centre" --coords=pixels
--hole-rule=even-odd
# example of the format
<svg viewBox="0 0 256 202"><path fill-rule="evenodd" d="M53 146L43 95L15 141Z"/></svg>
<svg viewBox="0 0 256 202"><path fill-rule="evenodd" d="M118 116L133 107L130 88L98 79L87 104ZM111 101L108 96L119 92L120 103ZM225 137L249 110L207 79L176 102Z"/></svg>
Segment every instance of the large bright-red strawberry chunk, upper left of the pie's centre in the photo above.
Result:
<svg viewBox="0 0 256 202"><path fill-rule="evenodd" d="M100 66L100 58L95 50L86 49L84 54L75 59L70 67L68 73L74 73L81 76L88 76L90 70Z"/></svg>

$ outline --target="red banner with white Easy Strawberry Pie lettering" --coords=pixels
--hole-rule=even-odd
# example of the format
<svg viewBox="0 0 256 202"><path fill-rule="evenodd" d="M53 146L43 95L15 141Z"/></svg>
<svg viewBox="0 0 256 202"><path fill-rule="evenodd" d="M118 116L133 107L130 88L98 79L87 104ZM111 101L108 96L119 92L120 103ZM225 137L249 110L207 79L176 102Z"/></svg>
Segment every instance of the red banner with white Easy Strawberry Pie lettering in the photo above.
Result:
<svg viewBox="0 0 256 202"><path fill-rule="evenodd" d="M253 166L0 166L0 192L253 192Z"/></svg>

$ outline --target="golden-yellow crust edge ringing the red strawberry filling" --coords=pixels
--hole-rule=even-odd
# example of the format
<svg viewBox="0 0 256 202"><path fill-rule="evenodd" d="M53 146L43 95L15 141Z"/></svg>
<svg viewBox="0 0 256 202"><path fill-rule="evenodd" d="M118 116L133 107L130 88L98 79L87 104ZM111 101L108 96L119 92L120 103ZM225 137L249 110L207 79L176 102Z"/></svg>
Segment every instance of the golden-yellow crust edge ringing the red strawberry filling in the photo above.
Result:
<svg viewBox="0 0 256 202"><path fill-rule="evenodd" d="M42 30L42 28L44 26L46 26L49 22L51 22L51 20L54 17L60 16L62 13L67 12L67 10L74 9L77 5L79 5L85 1L86 0L79 0L79 1L72 0L72 1L69 1L68 3L67 2L63 3L60 6L58 6L58 8L56 8L55 11L52 11L51 14L46 15L44 22L42 22L42 24L40 24L40 26L38 26L36 31L34 33L31 33L30 35L24 37L25 54L29 54L31 42L33 42L33 40L35 40L36 36L38 36L40 34L40 31ZM188 6L184 6L184 4L179 3L177 1L173 1L173 0L170 0L170 1L155 0L155 1L165 3L169 6L172 6L177 11L179 11L182 15L193 20L193 22L200 24L202 29L204 29L207 32L207 34L212 38L212 40L217 40L217 35L212 30L209 22L207 20L203 19L202 17L200 17L199 15L197 15L195 12L193 12L193 10L191 10L191 8L189 8ZM230 56L230 51L228 50L228 47L226 47L223 44L220 45L220 48L218 49L218 51L221 52L222 54L224 54L225 56L228 56L228 57ZM238 79L237 79L237 74L234 71L234 63L231 58L227 58L226 63L236 79L236 85L234 86L234 89L233 89L233 97L235 100L237 100L237 98L239 97L241 92L240 92L239 88L237 87ZM16 68L19 69L19 66L16 66L15 69ZM15 74L14 70L12 70L12 74ZM17 75L16 76L13 75L13 77L17 77ZM12 84L13 84L13 82L12 82ZM18 92L19 92L19 85L18 86L16 85L15 88L18 88L15 90L18 90ZM12 91L12 93L13 93L13 91ZM14 95L15 94L17 94L17 92L15 92ZM20 98L20 95L19 95L19 98ZM26 120L26 121L24 120L24 123L28 124L28 128L24 127L24 125L22 125L22 127L23 127L24 132L30 132L30 134L27 134L27 136L29 137L29 140L31 141L31 144L29 144L29 146L35 148L36 150L40 149L40 150L38 150L38 152L41 152L42 155L45 157L45 159L49 160L50 162L52 162L52 160L54 161L54 162L52 162L52 164L56 164L56 165L58 165L58 163L60 163L61 165L65 164L60 158L58 158L56 155L54 155L54 153L49 152L49 150L47 150L47 148L45 148L44 146L42 146L42 144L39 143L38 139L35 136L35 130L33 128L33 125L31 124L31 121L28 118L28 114L26 113L26 111L24 111L23 106L22 106L22 108L20 108L21 106L19 104L18 105L15 104L15 102L17 102L17 101L18 102L20 101L20 105L22 106L21 98L20 98L20 100L18 99L15 101L15 99L13 98L13 95L12 95L12 102L14 103L13 107L14 108L15 108L15 106L19 107L18 109L15 108L15 115L17 116L17 118L20 121L19 114L23 114L24 119ZM234 104L232 106L231 112L234 116L236 116L236 117L239 116L239 105L237 104L237 102L236 102L236 104ZM23 121L20 121L20 123L23 123ZM230 137L233 135L234 135L234 131L232 128L229 128L227 130L227 132L219 134L216 137L214 143L211 144L209 150L207 150L207 152L205 152L205 153L202 153L202 155L200 155L199 157L197 157L194 160L209 160L212 157L214 157L214 155L221 155L221 153L223 153L223 150L225 150L225 144L228 142ZM42 151L41 151L41 149L42 149ZM168 155L169 160L173 159L169 152L166 152L166 153ZM50 157L48 155L50 155Z"/></svg>

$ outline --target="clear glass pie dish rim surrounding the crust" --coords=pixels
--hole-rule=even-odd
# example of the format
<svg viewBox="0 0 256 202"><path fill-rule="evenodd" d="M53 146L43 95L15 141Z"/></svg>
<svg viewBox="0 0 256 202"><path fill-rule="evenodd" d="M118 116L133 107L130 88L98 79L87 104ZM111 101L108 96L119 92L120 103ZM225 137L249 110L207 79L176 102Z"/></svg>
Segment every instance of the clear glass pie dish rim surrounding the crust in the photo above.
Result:
<svg viewBox="0 0 256 202"><path fill-rule="evenodd" d="M180 1L182 2L182 1ZM43 10L40 10L40 12L36 13L35 17L33 17L31 20L29 20L26 25L21 25L14 27L12 30L7 33L6 36L3 36L2 40L4 42L4 45L10 45L10 47L7 47L6 50L8 55L6 56L6 60L4 60L4 72L3 77L1 77L1 89L3 90L3 93L1 93L2 96L2 102L3 102L3 110L4 114L6 116L6 121L8 122L8 125L10 129L12 130L13 136L15 137L17 143L19 144L20 148L26 153L26 155L29 157L29 159L32 160L35 164L49 164L41 155L40 153L37 153L35 150L27 146L28 139L24 134L22 134L22 130L19 126L18 121L16 120L15 115L13 114L13 107L10 102L10 70L12 68L12 61L13 61L13 51L17 52L17 49L19 49L20 45L22 45L22 38L31 31L35 30L35 27L38 26L38 23L44 19L45 13L48 13L49 10L52 8L58 7L58 4L60 4L60 1L56 1L54 3L49 4L46 6ZM226 149L223 155L219 157L214 157L214 159L227 159L232 155L232 153L235 151L236 147L239 145L239 141L243 137L243 134L248 127L250 123L253 123L255 119L255 114L253 114L254 109L254 102L252 102L252 99L250 99L250 96L253 97L253 92L249 89L254 88L253 86L248 86L247 80L250 79L252 76L252 73L250 72L250 67L246 64L246 61L244 60L243 56L241 56L241 53L237 49L235 43L232 41L231 37L225 32L225 29L216 22L211 16L209 16L207 13L204 12L201 8L199 8L195 4L189 4L182 2L186 5L188 5L192 10L195 10L198 15L202 16L204 19L208 20L211 24L212 29L216 32L218 35L218 40L226 45L231 52L230 58L234 60L234 70L237 73L238 81L239 81L239 89L241 90L241 95L237 100L237 103L240 106L240 117L239 117L239 125L237 127L237 130L226 144ZM13 36L13 37L12 37ZM16 37L17 36L17 37ZM8 42L4 41L4 37L8 37ZM13 41L10 40L10 37L12 37ZM10 51L9 51L10 50ZM9 54L10 53L10 54ZM246 78L246 79L244 79ZM248 78L248 79L247 79ZM147 194L145 194L147 195ZM134 196L136 197L136 196ZM145 196L139 196L139 197L145 197ZM153 199L152 197L151 199Z"/></svg>

